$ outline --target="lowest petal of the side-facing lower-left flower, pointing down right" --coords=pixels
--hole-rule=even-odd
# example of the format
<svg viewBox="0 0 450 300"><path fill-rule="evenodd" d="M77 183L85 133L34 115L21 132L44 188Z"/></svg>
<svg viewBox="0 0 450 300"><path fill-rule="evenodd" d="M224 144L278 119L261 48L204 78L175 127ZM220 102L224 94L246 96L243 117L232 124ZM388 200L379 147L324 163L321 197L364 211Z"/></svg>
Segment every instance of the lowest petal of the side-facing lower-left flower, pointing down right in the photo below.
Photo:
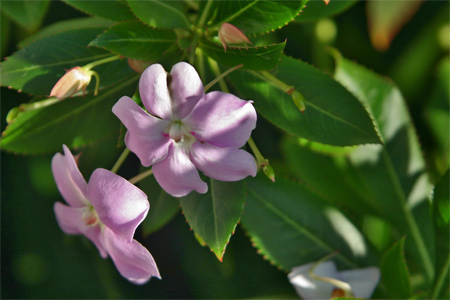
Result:
<svg viewBox="0 0 450 300"><path fill-rule="evenodd" d="M126 241L108 228L103 242L120 274L135 284L144 284L151 277L161 278L150 252L136 240Z"/></svg>

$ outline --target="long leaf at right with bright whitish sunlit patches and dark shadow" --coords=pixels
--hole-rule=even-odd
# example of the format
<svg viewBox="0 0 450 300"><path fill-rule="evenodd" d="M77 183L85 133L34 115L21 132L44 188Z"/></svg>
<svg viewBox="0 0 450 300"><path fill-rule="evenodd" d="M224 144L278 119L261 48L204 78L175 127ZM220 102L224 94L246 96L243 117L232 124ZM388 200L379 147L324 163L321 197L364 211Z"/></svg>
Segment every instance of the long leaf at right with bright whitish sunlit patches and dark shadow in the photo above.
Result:
<svg viewBox="0 0 450 300"><path fill-rule="evenodd" d="M408 109L398 88L387 79L337 55L335 77L369 109L382 145L358 147L350 159L367 182L374 209L401 234L407 251L426 278L434 274L434 236L429 214L431 186Z"/></svg>

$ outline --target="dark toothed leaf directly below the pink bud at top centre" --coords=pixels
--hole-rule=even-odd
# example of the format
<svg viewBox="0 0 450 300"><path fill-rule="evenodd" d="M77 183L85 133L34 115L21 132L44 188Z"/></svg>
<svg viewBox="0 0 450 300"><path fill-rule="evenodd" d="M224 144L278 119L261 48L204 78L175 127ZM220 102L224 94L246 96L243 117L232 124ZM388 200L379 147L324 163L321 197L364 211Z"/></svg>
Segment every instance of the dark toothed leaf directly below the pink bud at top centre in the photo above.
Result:
<svg viewBox="0 0 450 300"><path fill-rule="evenodd" d="M275 68L285 46L286 42L283 42L265 47L227 48L227 52L225 52L223 47L218 44L205 40L200 43L203 52L220 64L229 67L243 64L244 69L255 71Z"/></svg>

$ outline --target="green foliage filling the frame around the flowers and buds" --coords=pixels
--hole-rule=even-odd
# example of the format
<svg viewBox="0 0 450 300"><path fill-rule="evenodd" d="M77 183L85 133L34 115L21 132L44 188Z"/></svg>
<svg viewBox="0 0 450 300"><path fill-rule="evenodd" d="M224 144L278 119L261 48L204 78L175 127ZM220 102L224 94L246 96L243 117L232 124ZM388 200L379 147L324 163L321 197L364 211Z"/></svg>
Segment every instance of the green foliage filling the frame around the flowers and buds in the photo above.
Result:
<svg viewBox="0 0 450 300"><path fill-rule="evenodd" d="M449 10L415 2L401 20L404 4L386 15L377 1L2 2L5 297L293 298L287 272L330 253L340 270L380 268L374 298L448 297ZM225 51L223 23L252 44ZM202 175L208 192L179 199L154 177L138 182L150 212L137 239L163 279L136 289L56 227L50 157L65 144L81 149L85 178L110 169L126 130L113 105L142 106L138 73L179 61L212 90L253 101L261 168L238 182ZM93 78L48 102L65 71L86 65L98 88ZM118 174L148 172L139 165L131 154ZM392 230L381 238L373 220Z"/></svg>

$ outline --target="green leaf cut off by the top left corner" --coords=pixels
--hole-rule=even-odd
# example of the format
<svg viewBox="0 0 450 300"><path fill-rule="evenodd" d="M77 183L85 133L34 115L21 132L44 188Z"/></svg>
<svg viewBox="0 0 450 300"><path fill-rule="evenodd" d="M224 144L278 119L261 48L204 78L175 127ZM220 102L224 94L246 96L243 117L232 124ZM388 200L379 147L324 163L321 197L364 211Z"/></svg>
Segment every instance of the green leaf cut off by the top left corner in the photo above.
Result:
<svg viewBox="0 0 450 300"><path fill-rule="evenodd" d="M5 15L29 32L36 31L47 13L50 1L14 0L2 1L1 9Z"/></svg>

